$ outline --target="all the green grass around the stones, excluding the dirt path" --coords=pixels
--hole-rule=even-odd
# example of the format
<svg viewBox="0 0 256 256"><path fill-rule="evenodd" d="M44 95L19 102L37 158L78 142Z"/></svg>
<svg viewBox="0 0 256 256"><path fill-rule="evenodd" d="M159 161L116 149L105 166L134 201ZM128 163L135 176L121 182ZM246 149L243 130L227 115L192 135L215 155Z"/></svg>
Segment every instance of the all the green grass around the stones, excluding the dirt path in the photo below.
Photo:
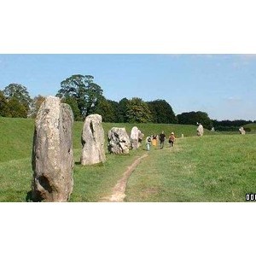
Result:
<svg viewBox="0 0 256 256"><path fill-rule="evenodd" d="M129 133L134 124L104 123L106 135L113 126L125 127ZM82 122L73 126L75 166L70 201L101 201L111 194L126 167L146 153L145 147L131 150L128 155L113 155L108 154L106 142L106 163L81 166L82 127ZM146 136L174 131L177 142L174 148L167 148L167 143L163 149L151 147L148 157L129 178L125 201L245 201L246 193L256 193L256 134L206 131L204 137L196 137L195 125L137 127ZM33 129L33 119L0 118L2 202L30 201Z"/></svg>

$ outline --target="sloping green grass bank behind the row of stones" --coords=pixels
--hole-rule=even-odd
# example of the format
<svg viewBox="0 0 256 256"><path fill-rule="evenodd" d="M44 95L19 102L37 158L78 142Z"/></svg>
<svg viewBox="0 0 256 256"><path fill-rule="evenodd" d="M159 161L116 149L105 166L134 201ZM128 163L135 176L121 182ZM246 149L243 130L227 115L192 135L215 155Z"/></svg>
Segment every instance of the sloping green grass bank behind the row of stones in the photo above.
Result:
<svg viewBox="0 0 256 256"><path fill-rule="evenodd" d="M81 148L80 136L83 124L83 122L75 122L73 125L73 148ZM106 134L106 145L108 131L114 126L125 127L125 130L129 134L135 124L103 123L103 129ZM166 136L172 131L175 132L176 137L181 137L182 134L184 137L196 136L196 125L137 124L137 127L145 136L154 133L160 134L161 131L165 131ZM30 157L33 131L34 119L0 117L0 162ZM211 132L205 130L205 134L211 134Z"/></svg>

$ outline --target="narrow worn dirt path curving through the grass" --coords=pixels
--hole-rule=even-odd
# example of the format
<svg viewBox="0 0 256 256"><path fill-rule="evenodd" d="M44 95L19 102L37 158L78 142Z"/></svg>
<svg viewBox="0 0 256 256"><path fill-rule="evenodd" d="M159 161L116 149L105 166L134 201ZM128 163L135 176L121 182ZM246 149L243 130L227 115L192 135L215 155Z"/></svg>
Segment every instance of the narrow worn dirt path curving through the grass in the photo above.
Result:
<svg viewBox="0 0 256 256"><path fill-rule="evenodd" d="M143 160L143 158L148 157L148 154L143 154L140 158L135 160L131 166L128 166L126 171L123 174L123 177L121 177L118 181L118 183L115 184L112 190L112 195L102 198L101 201L105 202L121 202L125 199L125 189L127 185L128 178L131 176L131 173L134 171L134 169L137 167L137 165Z"/></svg>

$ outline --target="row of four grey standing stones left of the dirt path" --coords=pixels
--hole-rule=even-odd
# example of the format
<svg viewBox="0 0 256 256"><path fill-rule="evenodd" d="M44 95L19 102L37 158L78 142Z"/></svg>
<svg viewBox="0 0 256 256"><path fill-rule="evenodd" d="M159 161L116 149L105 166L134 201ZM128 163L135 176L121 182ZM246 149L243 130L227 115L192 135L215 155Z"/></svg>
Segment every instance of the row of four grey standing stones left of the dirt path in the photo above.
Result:
<svg viewBox="0 0 256 256"><path fill-rule="evenodd" d="M108 152L128 154L137 149L143 133L133 127L108 131ZM81 135L81 165L106 161L102 116L91 114L84 120ZM73 191L73 112L61 99L48 96L39 108L32 145L32 201L68 201Z"/></svg>

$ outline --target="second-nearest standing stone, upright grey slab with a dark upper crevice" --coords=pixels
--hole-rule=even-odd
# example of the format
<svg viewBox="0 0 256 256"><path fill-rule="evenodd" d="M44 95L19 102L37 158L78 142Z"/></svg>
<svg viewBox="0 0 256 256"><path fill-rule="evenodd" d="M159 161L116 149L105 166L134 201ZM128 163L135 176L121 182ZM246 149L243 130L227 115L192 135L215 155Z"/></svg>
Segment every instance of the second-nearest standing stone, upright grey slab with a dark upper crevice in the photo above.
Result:
<svg viewBox="0 0 256 256"><path fill-rule="evenodd" d="M90 166L106 161L101 115L90 114L86 117L81 141L83 145L81 164L83 166Z"/></svg>

